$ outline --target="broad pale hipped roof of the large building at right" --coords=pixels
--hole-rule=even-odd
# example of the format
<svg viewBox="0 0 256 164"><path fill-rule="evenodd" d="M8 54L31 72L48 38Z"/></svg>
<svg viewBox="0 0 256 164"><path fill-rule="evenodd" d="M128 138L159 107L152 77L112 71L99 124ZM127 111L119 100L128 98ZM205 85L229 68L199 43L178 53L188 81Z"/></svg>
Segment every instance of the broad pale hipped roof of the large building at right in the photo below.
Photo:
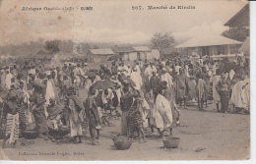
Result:
<svg viewBox="0 0 256 164"><path fill-rule="evenodd" d="M185 41L184 43L177 45L175 48L203 47L228 44L242 44L242 42L224 37L222 35L204 35L193 37Z"/></svg>

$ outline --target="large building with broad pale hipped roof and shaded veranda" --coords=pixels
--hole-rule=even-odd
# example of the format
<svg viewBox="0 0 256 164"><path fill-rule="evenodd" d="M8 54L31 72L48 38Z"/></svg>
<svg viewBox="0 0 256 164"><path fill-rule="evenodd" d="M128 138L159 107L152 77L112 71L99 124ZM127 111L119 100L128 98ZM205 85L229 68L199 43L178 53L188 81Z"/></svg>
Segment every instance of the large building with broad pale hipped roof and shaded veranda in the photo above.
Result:
<svg viewBox="0 0 256 164"><path fill-rule="evenodd" d="M193 37L175 47L176 52L188 56L215 56L236 53L235 45L242 42L222 35L202 35Z"/></svg>

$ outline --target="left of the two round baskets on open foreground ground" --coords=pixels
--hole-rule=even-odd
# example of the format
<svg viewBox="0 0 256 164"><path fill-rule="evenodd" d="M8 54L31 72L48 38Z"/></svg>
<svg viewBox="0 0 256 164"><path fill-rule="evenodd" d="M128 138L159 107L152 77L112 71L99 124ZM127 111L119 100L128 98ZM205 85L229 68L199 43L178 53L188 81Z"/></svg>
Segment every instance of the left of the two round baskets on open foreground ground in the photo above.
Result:
<svg viewBox="0 0 256 164"><path fill-rule="evenodd" d="M132 140L126 136L117 136L113 138L114 145L119 150L129 149L132 145Z"/></svg>

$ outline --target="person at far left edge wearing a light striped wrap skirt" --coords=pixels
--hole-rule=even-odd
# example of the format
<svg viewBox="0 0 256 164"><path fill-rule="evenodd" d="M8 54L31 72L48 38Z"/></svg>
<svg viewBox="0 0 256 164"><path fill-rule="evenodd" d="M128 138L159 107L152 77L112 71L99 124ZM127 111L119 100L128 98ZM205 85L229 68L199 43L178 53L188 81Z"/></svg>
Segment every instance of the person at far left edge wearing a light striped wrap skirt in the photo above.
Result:
<svg viewBox="0 0 256 164"><path fill-rule="evenodd" d="M17 144L19 139L19 113L18 113L18 92L17 90L11 90L7 95L7 101L4 104L4 116L6 117L6 137L2 142L2 147L5 147L6 141L9 138L9 143L13 148Z"/></svg>

